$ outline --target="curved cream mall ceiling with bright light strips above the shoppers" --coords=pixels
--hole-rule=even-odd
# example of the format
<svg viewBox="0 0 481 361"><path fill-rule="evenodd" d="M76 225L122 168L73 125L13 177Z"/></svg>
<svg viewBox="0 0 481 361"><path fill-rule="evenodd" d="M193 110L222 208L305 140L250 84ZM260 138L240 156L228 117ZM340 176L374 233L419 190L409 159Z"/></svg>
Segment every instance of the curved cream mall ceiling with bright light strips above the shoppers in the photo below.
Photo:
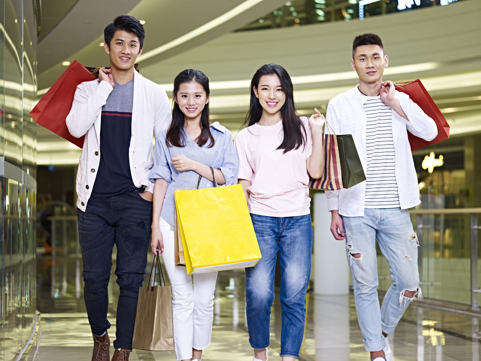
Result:
<svg viewBox="0 0 481 361"><path fill-rule="evenodd" d="M309 22L310 3L316 7L311 13L322 15ZM383 39L390 57L384 79L420 78L447 118L452 137L481 132L481 1L392 13L388 4L387 13L367 13L363 20L359 13L357 18L350 15L358 11L357 0L334 0L330 13L325 4L326 0L184 0L181 6L171 0L43 0L38 98L74 60L108 65L100 46L103 28L116 15L127 13L144 22L142 75L171 96L180 71L202 70L211 81L212 119L234 135L247 110L250 78L263 64L281 64L289 71L299 113L312 114L315 106L325 112L329 99L356 83L350 47L354 36L363 32ZM37 130L39 165L78 163L80 149L49 130Z"/></svg>

